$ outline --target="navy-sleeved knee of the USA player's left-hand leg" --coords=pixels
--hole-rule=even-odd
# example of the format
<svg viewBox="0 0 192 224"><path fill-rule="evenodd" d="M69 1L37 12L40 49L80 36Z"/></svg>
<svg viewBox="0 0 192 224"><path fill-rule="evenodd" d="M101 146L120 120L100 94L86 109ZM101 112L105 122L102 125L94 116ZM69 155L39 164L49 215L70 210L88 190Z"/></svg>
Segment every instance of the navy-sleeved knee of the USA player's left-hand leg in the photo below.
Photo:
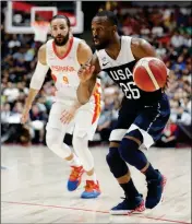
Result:
<svg viewBox="0 0 192 224"><path fill-rule="evenodd" d="M116 178L122 177L128 173L128 166L120 157L118 148L109 149L106 161L109 165L110 172Z"/></svg>

